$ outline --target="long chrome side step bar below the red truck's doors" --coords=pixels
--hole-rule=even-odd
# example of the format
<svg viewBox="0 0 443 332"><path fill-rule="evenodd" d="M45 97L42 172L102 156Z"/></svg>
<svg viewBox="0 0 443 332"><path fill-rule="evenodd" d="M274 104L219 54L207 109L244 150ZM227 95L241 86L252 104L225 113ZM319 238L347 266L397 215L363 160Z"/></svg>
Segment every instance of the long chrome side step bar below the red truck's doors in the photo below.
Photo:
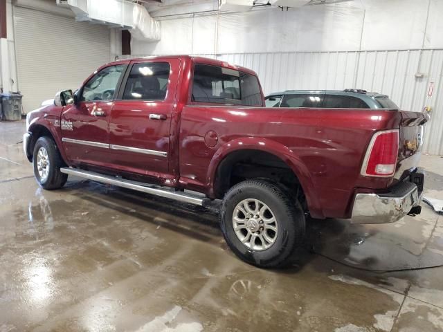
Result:
<svg viewBox="0 0 443 332"><path fill-rule="evenodd" d="M181 201L184 203L201 206L206 206L210 204L210 199L204 196L204 194L176 192L174 188L170 187L160 187L143 182L125 180L123 178L117 178L116 176L108 176L71 167L62 167L60 168L60 172L64 174L80 176L80 178L87 178L88 180L97 181L100 183L107 183L108 185L116 185L117 187L123 187L136 190L138 192L145 192L147 194L165 197L166 199L175 199L176 201Z"/></svg>

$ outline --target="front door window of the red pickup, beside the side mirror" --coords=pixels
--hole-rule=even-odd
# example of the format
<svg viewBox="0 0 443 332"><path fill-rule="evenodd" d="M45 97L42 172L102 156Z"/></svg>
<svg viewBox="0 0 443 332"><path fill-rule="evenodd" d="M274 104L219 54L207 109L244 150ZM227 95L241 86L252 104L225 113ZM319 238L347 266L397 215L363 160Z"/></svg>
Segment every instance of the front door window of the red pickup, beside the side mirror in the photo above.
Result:
<svg viewBox="0 0 443 332"><path fill-rule="evenodd" d="M103 68L84 85L80 100L91 102L114 99L118 80L125 68L126 64Z"/></svg>

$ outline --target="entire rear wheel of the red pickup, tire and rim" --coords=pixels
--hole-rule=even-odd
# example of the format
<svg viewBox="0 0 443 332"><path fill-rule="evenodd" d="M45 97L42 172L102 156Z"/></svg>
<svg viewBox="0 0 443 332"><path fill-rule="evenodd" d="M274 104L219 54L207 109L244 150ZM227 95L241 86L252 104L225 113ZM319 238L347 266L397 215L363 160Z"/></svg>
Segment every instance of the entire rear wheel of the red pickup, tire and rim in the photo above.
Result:
<svg viewBox="0 0 443 332"><path fill-rule="evenodd" d="M221 206L220 223L235 255L261 268L284 266L305 237L300 203L278 185L262 180L230 188Z"/></svg>

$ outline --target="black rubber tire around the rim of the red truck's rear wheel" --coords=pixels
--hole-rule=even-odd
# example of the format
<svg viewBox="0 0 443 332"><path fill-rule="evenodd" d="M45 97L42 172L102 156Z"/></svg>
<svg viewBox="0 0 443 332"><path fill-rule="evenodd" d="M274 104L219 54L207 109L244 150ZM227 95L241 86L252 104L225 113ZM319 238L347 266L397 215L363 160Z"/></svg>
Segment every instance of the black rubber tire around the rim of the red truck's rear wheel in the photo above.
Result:
<svg viewBox="0 0 443 332"><path fill-rule="evenodd" d="M270 212L275 216L278 232L273 233L275 240L269 248L260 251L248 248L235 233L233 213L237 204L245 199L261 201L260 204L264 203L267 205ZM238 213L238 210L235 211ZM246 216L244 220L248 220ZM257 220L260 220L260 218ZM229 248L233 250L235 255L246 261L246 263L260 268L285 266L289 263L289 257L302 246L305 238L305 214L300 203L295 198L291 198L289 194L285 194L278 185L263 180L243 181L228 190L221 205L220 224L226 243L228 243ZM269 230L265 231L272 232ZM246 232L247 235L249 231L244 229L242 232ZM260 232L260 230L257 232ZM257 232L254 232L254 234ZM246 235L244 236L246 237ZM262 243L262 240L255 241L254 243ZM255 246L254 244L251 245L251 243L248 244ZM264 247L262 246L262 248Z"/></svg>

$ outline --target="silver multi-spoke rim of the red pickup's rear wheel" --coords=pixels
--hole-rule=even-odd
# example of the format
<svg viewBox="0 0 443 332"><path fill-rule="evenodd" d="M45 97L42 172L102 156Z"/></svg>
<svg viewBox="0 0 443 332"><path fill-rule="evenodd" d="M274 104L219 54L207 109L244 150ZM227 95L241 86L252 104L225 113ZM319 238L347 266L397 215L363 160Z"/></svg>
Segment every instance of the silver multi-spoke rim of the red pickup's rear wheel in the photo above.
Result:
<svg viewBox="0 0 443 332"><path fill-rule="evenodd" d="M244 199L233 212L237 238L251 250L269 249L277 239L278 224L268 205L258 199Z"/></svg>

